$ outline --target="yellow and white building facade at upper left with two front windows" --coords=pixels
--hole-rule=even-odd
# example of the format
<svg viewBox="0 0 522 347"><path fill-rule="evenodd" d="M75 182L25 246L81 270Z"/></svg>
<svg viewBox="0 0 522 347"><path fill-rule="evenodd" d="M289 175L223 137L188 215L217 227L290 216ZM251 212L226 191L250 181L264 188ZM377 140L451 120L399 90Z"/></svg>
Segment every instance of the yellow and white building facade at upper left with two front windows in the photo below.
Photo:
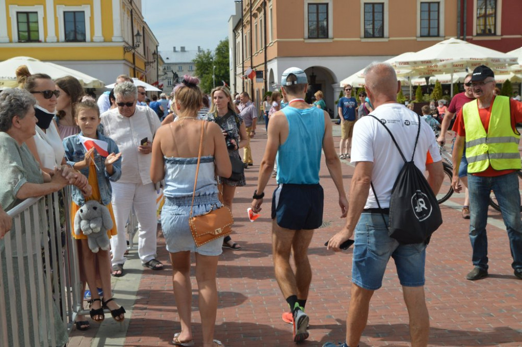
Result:
<svg viewBox="0 0 522 347"><path fill-rule="evenodd" d="M106 84L120 74L153 83L157 48L141 0L0 0L0 61L30 56Z"/></svg>

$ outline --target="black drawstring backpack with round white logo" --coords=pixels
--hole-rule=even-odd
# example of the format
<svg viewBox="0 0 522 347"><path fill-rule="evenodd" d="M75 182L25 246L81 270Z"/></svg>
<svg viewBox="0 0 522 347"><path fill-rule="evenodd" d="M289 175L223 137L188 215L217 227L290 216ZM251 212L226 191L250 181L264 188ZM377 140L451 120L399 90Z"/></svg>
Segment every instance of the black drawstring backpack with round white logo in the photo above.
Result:
<svg viewBox="0 0 522 347"><path fill-rule="evenodd" d="M404 166L395 180L392 188L392 196L390 197L389 225L387 225L388 234L390 237L399 241L400 244L409 245L420 244L422 242L428 244L431 234L442 224L442 214L430 184L419 168L415 166L415 163L413 163L413 156L415 155L415 149L421 131L421 119L418 116L419 129L417 131L417 138L413 147L411 160L407 161L388 127L374 115L369 115L381 123L388 131L400 156L404 160ZM379 204L377 200L377 194L375 193L373 184L371 184L371 186L380 209L381 204ZM382 216L384 224L386 225L384 215Z"/></svg>

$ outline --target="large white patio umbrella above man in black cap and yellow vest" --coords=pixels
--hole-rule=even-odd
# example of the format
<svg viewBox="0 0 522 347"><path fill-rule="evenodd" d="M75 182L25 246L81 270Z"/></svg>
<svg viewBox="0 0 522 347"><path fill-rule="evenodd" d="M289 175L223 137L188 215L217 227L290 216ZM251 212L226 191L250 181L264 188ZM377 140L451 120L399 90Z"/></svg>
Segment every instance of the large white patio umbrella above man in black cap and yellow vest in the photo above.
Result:
<svg viewBox="0 0 522 347"><path fill-rule="evenodd" d="M417 70L421 72L421 75L435 75L462 72L466 68L473 70L473 68L482 64L491 68L503 69L517 64L517 58L513 55L452 38L438 42L417 53L400 57L396 59L394 64L398 68ZM453 78L451 79L453 80Z"/></svg>

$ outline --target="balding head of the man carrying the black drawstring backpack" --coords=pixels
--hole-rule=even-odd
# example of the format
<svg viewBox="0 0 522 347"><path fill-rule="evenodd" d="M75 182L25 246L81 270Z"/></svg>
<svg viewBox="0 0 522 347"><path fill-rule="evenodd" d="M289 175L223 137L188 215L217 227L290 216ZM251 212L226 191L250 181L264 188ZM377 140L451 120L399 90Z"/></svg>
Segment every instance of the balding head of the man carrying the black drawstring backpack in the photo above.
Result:
<svg viewBox="0 0 522 347"><path fill-rule="evenodd" d="M374 62L364 69L364 84L366 91L375 99L397 100L399 82L392 65L388 63Z"/></svg>

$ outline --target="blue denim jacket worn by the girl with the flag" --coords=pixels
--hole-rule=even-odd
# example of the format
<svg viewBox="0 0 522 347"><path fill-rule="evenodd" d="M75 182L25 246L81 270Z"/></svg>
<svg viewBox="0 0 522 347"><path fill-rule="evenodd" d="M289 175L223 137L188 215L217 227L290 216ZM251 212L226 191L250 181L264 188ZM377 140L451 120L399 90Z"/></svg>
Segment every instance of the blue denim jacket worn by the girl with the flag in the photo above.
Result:
<svg viewBox="0 0 522 347"><path fill-rule="evenodd" d="M83 136L81 132L78 135ZM67 164L70 166L78 163L78 161L84 160L85 153L87 152L84 146L81 144L78 135L69 136L63 140L65 158L67 160ZM109 144L107 152L114 154L120 153L116 143L111 138L103 136L99 131L98 140L105 141ZM102 157L98 151L94 151L94 163L96 163L96 166L98 167L96 174L98 176L98 189L100 190L100 196L102 200L101 203L108 205L112 198L112 188L110 181L116 182L122 176L122 158L115 161L115 163L112 165L112 175L109 175L109 172L107 172L105 169L105 157ZM89 167L81 169L80 172L85 175L85 177L89 177ZM92 187L92 189L96 188ZM85 204L84 195L77 187L73 187L73 201L78 206Z"/></svg>

